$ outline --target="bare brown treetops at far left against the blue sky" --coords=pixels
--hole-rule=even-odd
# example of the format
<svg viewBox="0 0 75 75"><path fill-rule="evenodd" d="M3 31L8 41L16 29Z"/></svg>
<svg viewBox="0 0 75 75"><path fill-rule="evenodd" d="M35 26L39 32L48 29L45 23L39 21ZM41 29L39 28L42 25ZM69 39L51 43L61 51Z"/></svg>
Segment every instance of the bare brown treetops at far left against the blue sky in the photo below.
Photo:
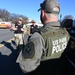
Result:
<svg viewBox="0 0 75 75"><path fill-rule="evenodd" d="M22 17L24 21L27 20L27 17L24 15L10 13L5 9L0 9L0 19L3 21L11 21L12 23L15 23L19 17Z"/></svg>

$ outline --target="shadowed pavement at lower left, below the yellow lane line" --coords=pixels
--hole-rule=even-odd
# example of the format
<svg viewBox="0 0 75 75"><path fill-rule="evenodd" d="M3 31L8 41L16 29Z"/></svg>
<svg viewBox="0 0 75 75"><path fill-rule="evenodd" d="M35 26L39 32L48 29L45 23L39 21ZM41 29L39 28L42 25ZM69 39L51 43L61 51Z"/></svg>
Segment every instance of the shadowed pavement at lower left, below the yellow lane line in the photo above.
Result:
<svg viewBox="0 0 75 75"><path fill-rule="evenodd" d="M11 43L3 41L3 43L4 47L0 48L0 75L26 75L16 63L19 52L16 50L14 41Z"/></svg>

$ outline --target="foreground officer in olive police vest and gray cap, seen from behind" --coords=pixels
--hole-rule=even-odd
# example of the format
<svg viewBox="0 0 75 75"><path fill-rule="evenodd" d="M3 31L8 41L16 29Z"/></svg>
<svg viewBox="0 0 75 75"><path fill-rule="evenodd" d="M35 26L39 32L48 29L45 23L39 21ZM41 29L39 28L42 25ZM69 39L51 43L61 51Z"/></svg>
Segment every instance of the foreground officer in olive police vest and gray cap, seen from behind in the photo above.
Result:
<svg viewBox="0 0 75 75"><path fill-rule="evenodd" d="M69 34L60 27L60 6L56 0L44 0L40 7L43 27L30 37L17 62L24 73L56 75L59 68L58 59L67 47Z"/></svg>

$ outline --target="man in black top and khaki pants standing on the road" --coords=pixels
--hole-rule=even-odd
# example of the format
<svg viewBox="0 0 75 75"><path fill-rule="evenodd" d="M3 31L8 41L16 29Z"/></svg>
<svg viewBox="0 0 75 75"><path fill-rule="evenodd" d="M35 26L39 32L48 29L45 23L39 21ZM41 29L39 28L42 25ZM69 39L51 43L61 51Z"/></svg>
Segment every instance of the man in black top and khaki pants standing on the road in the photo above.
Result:
<svg viewBox="0 0 75 75"><path fill-rule="evenodd" d="M26 26L23 24L23 19L19 17L18 22L13 27L16 47L19 49L23 46L23 34L26 33Z"/></svg>

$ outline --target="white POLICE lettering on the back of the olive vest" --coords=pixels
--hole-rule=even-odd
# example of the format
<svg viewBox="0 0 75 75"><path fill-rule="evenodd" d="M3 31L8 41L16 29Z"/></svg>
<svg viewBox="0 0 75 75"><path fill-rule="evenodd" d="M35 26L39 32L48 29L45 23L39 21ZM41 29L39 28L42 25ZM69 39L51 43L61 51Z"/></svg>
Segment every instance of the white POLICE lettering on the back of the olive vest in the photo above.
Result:
<svg viewBox="0 0 75 75"><path fill-rule="evenodd" d="M52 44L53 44L53 47L52 47L52 55L53 55L55 53L63 51L66 48L67 38L63 37L61 39L53 40Z"/></svg>

